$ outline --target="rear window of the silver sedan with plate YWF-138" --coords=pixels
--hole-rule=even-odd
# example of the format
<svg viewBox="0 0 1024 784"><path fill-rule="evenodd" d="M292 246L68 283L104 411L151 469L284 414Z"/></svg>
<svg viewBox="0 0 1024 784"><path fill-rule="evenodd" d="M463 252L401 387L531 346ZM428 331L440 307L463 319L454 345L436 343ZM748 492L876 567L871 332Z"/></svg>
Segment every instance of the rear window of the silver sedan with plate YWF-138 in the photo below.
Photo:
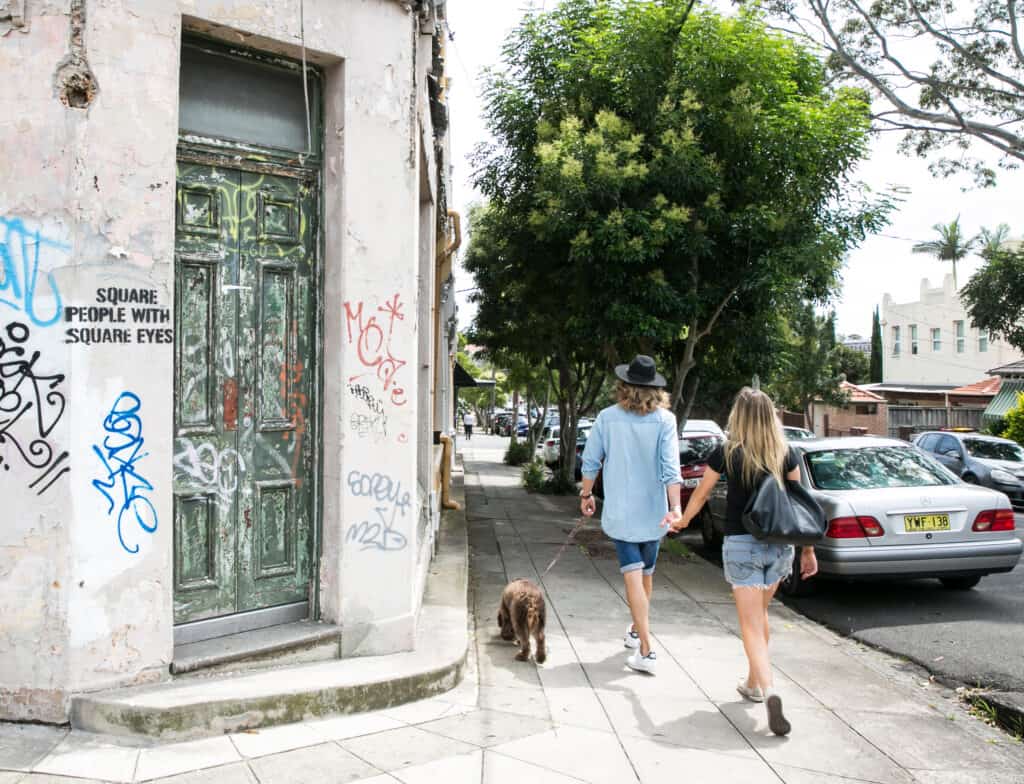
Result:
<svg viewBox="0 0 1024 784"><path fill-rule="evenodd" d="M918 449L870 446L807 453L814 486L822 490L878 487L927 487L955 484L956 479Z"/></svg>

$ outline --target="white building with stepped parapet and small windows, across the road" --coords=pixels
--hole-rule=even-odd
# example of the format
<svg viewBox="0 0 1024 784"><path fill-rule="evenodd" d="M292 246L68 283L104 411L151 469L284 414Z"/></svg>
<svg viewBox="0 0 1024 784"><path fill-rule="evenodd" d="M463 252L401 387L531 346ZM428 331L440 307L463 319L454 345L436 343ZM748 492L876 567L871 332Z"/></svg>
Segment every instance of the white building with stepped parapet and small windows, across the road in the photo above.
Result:
<svg viewBox="0 0 1024 784"><path fill-rule="evenodd" d="M992 367L1022 358L1009 344L971 325L971 317L946 275L939 288L921 281L916 302L882 300L885 384L957 387L974 383Z"/></svg>

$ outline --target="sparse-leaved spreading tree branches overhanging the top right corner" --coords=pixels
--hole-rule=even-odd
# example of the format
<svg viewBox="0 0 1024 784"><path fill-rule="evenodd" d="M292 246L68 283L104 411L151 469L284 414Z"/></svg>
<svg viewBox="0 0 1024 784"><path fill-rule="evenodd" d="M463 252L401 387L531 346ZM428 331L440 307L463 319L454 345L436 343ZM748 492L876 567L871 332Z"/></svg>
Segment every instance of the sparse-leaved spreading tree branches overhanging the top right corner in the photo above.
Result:
<svg viewBox="0 0 1024 784"><path fill-rule="evenodd" d="M1024 45L1018 0L766 0L790 32L818 48L838 77L868 87L877 127L904 132L920 156L945 149L937 174L990 165L964 154L972 140L1002 165L1024 161ZM930 62L923 63L923 57Z"/></svg>

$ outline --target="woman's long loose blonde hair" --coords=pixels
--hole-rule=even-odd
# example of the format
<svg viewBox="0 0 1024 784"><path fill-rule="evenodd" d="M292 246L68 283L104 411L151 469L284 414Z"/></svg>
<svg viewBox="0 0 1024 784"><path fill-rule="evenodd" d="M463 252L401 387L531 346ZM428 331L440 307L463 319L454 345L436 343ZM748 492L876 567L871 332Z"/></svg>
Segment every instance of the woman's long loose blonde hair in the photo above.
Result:
<svg viewBox="0 0 1024 784"><path fill-rule="evenodd" d="M734 466L733 455L742 449L743 484L753 487L764 474L771 474L781 484L788 446L771 398L759 389L743 387L736 395L726 427L726 465Z"/></svg>

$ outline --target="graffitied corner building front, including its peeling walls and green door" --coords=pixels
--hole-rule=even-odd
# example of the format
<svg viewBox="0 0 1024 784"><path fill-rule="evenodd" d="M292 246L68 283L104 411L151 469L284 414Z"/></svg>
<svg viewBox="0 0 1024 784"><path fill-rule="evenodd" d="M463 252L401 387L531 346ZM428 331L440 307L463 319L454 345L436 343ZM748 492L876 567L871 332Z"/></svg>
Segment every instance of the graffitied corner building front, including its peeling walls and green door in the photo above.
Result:
<svg viewBox="0 0 1024 784"><path fill-rule="evenodd" d="M434 2L0 3L0 718L303 618L412 647L445 40Z"/></svg>

